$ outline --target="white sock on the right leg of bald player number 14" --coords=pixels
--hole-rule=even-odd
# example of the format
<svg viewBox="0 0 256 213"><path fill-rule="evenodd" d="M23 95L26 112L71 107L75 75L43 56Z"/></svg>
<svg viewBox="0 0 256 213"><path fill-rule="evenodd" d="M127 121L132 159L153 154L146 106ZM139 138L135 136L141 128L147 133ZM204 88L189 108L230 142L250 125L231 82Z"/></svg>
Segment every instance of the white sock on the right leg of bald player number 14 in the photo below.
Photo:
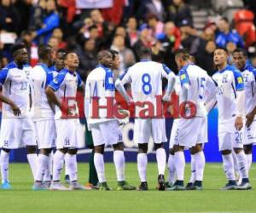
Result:
<svg viewBox="0 0 256 213"><path fill-rule="evenodd" d="M125 154L124 151L113 151L113 163L115 165L118 181L125 181Z"/></svg>

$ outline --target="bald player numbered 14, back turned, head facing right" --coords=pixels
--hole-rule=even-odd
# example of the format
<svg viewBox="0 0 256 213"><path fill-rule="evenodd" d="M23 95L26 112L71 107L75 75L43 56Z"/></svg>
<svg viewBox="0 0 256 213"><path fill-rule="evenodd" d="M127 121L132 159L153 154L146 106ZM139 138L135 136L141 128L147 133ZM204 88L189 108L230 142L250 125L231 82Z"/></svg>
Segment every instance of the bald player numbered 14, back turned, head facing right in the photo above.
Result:
<svg viewBox="0 0 256 213"><path fill-rule="evenodd" d="M108 50L98 53L99 65L90 72L86 80L84 111L91 130L94 143L94 164L99 179L99 190L111 190L105 177L104 147L113 146L113 163L116 169L117 190L134 190L125 181L125 155L122 132L117 118L106 118L107 110L99 110L99 118L92 118L94 99L98 99L99 106L106 106L107 98L114 98L113 55Z"/></svg>

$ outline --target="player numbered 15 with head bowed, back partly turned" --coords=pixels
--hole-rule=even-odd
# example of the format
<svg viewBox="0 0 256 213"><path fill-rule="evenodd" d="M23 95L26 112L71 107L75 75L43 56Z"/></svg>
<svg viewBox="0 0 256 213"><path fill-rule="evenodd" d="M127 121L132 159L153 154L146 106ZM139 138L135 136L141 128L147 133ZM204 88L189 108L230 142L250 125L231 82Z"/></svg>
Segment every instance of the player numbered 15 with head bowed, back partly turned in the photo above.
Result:
<svg viewBox="0 0 256 213"><path fill-rule="evenodd" d="M192 110L187 107L189 102L195 104L196 113L194 118L179 118L177 131L174 139L174 164L177 181L169 190L184 190L183 178L185 159L183 150L190 148L190 153L195 155L195 183L194 189L202 189L204 171L204 154L201 142L207 141L206 122L207 109L205 107L205 94L208 87L212 88L214 82L201 67L196 66L189 60L189 54L185 49L178 49L175 60L179 69L181 83L180 103L183 104L183 112L188 116ZM210 99L211 96L209 96ZM200 143L198 143L200 142ZM198 144L197 144L198 143Z"/></svg>

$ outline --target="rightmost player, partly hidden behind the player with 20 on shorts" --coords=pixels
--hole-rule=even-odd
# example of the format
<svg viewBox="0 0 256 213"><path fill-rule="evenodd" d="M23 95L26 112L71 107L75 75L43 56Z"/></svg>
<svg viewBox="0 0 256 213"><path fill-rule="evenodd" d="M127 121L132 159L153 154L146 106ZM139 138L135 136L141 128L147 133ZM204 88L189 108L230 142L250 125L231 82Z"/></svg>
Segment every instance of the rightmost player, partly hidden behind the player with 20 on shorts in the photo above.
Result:
<svg viewBox="0 0 256 213"><path fill-rule="evenodd" d="M256 106L256 69L246 64L247 51L245 49L235 49L233 61L236 68L241 71L246 94L247 124L245 127L243 149L247 157L247 170L250 170L253 158L253 144L256 143L256 120L253 113L253 108Z"/></svg>

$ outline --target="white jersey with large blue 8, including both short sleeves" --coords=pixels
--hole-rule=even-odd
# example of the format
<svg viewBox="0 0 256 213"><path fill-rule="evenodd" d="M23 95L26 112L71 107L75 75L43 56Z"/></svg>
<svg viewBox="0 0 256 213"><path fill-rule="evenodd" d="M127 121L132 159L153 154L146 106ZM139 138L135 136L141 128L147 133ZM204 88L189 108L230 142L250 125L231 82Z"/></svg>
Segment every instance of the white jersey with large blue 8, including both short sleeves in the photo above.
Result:
<svg viewBox="0 0 256 213"><path fill-rule="evenodd" d="M157 97L160 97L161 100L162 95L162 78L168 78L168 75L175 78L175 74L167 66L151 60L142 60L127 69L120 76L120 81L123 85L131 83L133 101L152 103L155 116L159 107L157 106Z"/></svg>

